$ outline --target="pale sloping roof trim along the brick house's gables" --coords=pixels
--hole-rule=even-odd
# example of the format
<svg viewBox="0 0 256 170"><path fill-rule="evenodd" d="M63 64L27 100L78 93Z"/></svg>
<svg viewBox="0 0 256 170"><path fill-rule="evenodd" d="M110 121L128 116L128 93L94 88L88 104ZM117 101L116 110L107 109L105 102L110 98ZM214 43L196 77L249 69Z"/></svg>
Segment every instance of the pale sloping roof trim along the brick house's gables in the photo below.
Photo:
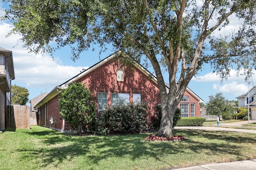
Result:
<svg viewBox="0 0 256 170"><path fill-rule="evenodd" d="M66 82L64 82L63 84L60 84L59 86L56 86L47 96L45 96L40 102L38 102L38 104L36 104L36 106L34 107L40 107L42 106L44 103L48 102L49 100L51 100L52 98L54 98L56 95L60 94L61 92L63 92L66 88L68 88L68 86L70 84L72 84L73 82L75 82L76 80L78 80L79 78L85 76L86 74L88 74L89 72L92 72L93 70L95 70L96 68L98 68L99 66L101 66L102 64L110 61L111 59L113 59L114 57L118 57L122 55L123 57L127 57L126 55L124 55L124 53L122 53L121 51L117 51L116 53L113 53L112 55L106 57L105 59L103 59L102 61L94 64L93 66L91 66L90 68L80 72L80 74L77 74L76 76L70 78L69 80L67 80ZM146 76L150 77L151 80L153 82L155 82L156 84L158 84L156 76L154 76L152 73L150 73L146 68L144 68L141 64L138 64L136 62L134 62L134 66L136 68L138 68L140 71L142 71ZM166 85L166 90L167 92L169 92L169 86L168 84ZM194 92L192 92L190 89L187 88L187 90L198 99L198 101L204 102L201 98L199 98L196 94L194 94Z"/></svg>

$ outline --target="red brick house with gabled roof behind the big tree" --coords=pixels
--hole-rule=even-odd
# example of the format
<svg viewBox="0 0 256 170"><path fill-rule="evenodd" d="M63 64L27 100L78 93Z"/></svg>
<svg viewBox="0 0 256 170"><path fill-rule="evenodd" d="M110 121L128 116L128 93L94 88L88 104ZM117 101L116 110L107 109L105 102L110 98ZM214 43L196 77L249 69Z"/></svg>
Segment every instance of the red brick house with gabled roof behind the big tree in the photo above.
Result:
<svg viewBox="0 0 256 170"><path fill-rule="evenodd" d="M58 131L72 130L70 125L61 119L58 100L59 94L73 82L86 83L92 92L98 115L107 107L120 101L123 104L129 104L143 100L148 104L148 112L150 113L148 121L153 121L156 106L160 104L160 90L157 80L140 64L122 64L120 62L122 57L126 56L121 53L114 53L54 88L35 106L40 115L40 125ZM169 90L168 84L166 84L166 89ZM200 117L200 102L203 101L187 88L178 106L182 109L182 116ZM51 118L54 119L53 125L50 125Z"/></svg>

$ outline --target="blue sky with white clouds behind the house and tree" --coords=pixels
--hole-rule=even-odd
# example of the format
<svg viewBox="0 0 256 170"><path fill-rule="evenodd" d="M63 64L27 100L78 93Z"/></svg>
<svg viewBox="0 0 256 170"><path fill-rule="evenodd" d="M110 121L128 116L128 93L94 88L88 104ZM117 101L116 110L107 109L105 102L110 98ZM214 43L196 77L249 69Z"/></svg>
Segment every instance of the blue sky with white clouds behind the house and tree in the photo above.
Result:
<svg viewBox="0 0 256 170"><path fill-rule="evenodd" d="M0 2L0 16L4 15L2 9L4 3ZM224 27L221 31L216 32L216 35L224 35L229 33L239 25L240 21L235 17L230 19L230 25ZM18 43L20 35L11 35L5 37L12 25L0 21L0 47L8 49L13 53L15 80L12 84L25 87L29 90L29 99L35 98L44 92L50 92L56 86L66 82L70 78L79 74L82 68L88 68L100 61L100 47L94 46L95 50L91 49L84 51L80 55L80 59L72 61L70 59L71 50L68 47L56 51L53 55L54 60L48 54L28 53L28 50L22 47L22 43ZM100 55L104 59L114 51L108 51ZM152 70L149 71L152 72ZM212 74L210 65L205 65L199 71L197 78L192 78L188 84L188 88L197 94L204 102L208 102L210 95L215 95L222 92L223 96L228 100L236 100L237 96L245 94L248 91L248 84L245 83L245 76L236 76L237 71L231 70L230 78L221 83L221 79ZM164 79L168 82L168 75L164 74ZM253 84L256 83L256 72L254 70Z"/></svg>

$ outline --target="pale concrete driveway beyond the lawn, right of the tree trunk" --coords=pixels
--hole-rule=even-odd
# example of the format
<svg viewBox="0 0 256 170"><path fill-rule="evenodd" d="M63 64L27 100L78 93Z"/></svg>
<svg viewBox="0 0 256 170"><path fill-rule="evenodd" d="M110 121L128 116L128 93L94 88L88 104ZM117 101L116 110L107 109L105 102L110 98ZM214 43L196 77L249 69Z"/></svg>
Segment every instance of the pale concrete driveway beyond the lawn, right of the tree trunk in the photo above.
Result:
<svg viewBox="0 0 256 170"><path fill-rule="evenodd" d="M256 120L250 120L250 123L256 123ZM241 133L256 133L256 128L255 130L231 128L231 127L245 127L242 124L248 124L248 121L220 123L220 126L217 126L217 122L215 125L209 125L209 126L176 126L174 127L174 129L201 129L201 130L209 130L209 131L233 131L233 132L241 132ZM229 128L225 128L225 127L229 127Z"/></svg>

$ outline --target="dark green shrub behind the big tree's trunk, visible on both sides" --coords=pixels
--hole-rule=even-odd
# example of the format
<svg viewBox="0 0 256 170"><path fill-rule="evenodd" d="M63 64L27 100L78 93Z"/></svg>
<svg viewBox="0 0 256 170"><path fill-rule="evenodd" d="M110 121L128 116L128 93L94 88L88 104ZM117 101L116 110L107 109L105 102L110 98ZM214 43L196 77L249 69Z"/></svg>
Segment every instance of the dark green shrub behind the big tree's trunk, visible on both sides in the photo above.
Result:
<svg viewBox="0 0 256 170"><path fill-rule="evenodd" d="M155 120L153 121L154 128L157 129L160 127L161 117L162 117L161 105L158 105L158 106L156 106ZM177 107L175 110L175 113L174 113L172 127L176 126L176 124L180 120L180 118L181 118L181 109L179 109Z"/></svg>

